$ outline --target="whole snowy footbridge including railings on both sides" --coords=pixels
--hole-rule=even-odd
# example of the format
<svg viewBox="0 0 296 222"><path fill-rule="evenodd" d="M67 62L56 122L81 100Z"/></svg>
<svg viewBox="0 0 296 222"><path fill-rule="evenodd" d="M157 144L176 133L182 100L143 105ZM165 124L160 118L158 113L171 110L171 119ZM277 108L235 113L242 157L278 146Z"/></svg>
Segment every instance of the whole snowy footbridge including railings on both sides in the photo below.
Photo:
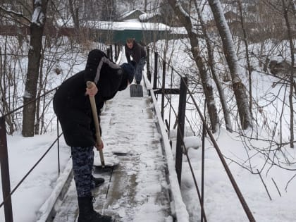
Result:
<svg viewBox="0 0 296 222"><path fill-rule="evenodd" d="M147 72L144 72L147 73L147 77L144 76L142 80L144 97L130 97L129 89L118 92L116 97L106 101L104 109L101 112L102 140L104 141L105 147L104 159L106 166L112 167L108 169L105 168L103 171L94 171L94 176L105 179L105 183L101 185L101 187L97 187L93 190L95 198L94 209L101 214L113 216L116 218L116 222L187 222L190 221L190 219L192 221L192 215L188 215L179 187L183 164L182 156L185 154L188 166L184 169L186 173L191 172L192 174L201 209L201 221L206 221L203 193L204 168L202 166L202 191L199 192L195 173L190 163L185 141L183 140L185 104L187 104L186 97L187 94L189 94L192 104L204 123L202 140L205 140L207 132L211 144L214 146L221 160L238 199L240 199L242 208L245 210L249 221L254 221L252 212L249 210L245 199L242 197L242 193L235 183L221 150L211 130L207 127L197 102L187 87L187 78L180 76L180 90L173 88L166 89L166 62L163 61L162 58L159 58L155 51L153 56L149 53L148 49L147 55ZM113 58L113 56L111 56L111 58ZM125 58L122 54L116 55L116 58L120 58L120 63L125 62ZM149 66L152 61L154 61L153 87L150 85L152 70L151 66ZM160 63L163 65L161 87L158 86L160 81L157 76L160 70ZM171 69L173 70L173 68ZM173 72L171 73L171 75L173 75ZM172 77L171 80L173 80ZM54 90L56 89L50 90L47 94L54 92ZM161 111L159 111L154 92L155 94L162 94ZM170 140L166 132L166 129L169 129L169 132L171 132L171 121L167 123L166 120L163 121L162 118L162 116L164 116L165 97L168 99L171 106L171 97L168 97L168 94L180 94L178 99L178 112L170 108L170 115L173 110L175 119L177 120L175 125L178 125L175 158L173 158ZM0 204L0 207L4 205L6 222L13 221L11 195L17 190L18 186L23 183L27 175L30 175L30 172L39 164L44 156L46 156L47 152L49 152L56 142L59 147L58 138L61 137L61 134L57 130L58 137L47 149L47 152L42 155L39 161L37 161L24 178L20 180L20 183L11 191L8 171L6 126L4 121L5 116L11 113L6 113L6 115L0 117L1 181L4 182L2 183L4 202ZM171 116L169 118L171 119ZM204 153L204 144L202 145L202 153ZM98 152L95 152L95 154L94 164L100 164ZM202 163L204 163L204 155L201 154L200 156L202 156ZM58 170L59 169L58 167ZM60 171L58 171L58 173L60 173ZM71 160L68 161L63 173L58 177L53 192L51 192L51 195L41 208L37 210L36 214L37 221L39 222L77 221L78 200L73 180Z"/></svg>

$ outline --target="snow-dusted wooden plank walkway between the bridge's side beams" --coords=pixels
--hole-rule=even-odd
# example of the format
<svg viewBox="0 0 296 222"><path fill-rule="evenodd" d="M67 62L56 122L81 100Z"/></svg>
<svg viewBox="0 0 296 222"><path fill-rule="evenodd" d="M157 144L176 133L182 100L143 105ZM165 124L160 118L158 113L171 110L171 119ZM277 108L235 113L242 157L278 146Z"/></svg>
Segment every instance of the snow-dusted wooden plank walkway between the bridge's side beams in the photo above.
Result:
<svg viewBox="0 0 296 222"><path fill-rule="evenodd" d="M94 174L106 180L93 190L94 209L116 216L116 222L173 221L167 167L152 108L147 92L142 98L130 98L127 89L107 101L101 114L106 164L113 161L114 153L123 155L116 157L119 164L112 175L111 171ZM99 163L98 155L95 162ZM73 180L55 212L51 221L76 220L78 203Z"/></svg>

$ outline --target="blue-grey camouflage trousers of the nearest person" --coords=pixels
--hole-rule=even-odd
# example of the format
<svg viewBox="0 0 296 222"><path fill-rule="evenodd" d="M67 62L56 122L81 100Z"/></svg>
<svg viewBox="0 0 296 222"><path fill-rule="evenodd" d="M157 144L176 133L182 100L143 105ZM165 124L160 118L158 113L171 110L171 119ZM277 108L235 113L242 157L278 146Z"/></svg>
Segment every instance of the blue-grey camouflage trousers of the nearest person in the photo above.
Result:
<svg viewBox="0 0 296 222"><path fill-rule="evenodd" d="M94 147L71 147L73 173L78 197L92 196Z"/></svg>

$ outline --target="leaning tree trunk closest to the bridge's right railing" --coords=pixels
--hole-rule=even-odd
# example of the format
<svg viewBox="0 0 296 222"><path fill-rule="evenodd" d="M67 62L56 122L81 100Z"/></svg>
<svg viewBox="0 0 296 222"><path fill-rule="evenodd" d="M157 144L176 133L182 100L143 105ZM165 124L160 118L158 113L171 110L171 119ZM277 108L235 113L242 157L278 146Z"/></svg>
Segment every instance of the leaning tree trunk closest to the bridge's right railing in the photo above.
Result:
<svg viewBox="0 0 296 222"><path fill-rule="evenodd" d="M204 60L199 52L199 42L197 33L194 32L194 27L190 20L190 16L185 12L183 7L180 5L180 2L177 3L176 0L168 0L168 3L171 5L173 11L175 11L175 14L178 16L181 23L183 23L185 29L187 30L191 44L191 52L195 59L195 63L197 64L200 78L202 79L202 87L204 90L204 96L206 97L206 106L208 109L209 119L211 122L211 130L213 132L216 132L216 130L218 130L218 113L214 99L214 92L211 82L209 81L209 73L206 72Z"/></svg>

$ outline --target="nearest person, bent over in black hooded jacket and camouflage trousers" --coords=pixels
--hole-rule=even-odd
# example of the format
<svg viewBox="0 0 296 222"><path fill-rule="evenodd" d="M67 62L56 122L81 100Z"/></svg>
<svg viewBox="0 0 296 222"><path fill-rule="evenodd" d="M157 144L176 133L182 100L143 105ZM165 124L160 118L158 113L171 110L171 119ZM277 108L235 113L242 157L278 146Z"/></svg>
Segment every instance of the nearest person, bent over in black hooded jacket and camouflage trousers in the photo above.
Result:
<svg viewBox="0 0 296 222"><path fill-rule="evenodd" d="M66 143L71 147L73 174L78 193L78 222L109 222L111 216L103 216L92 206L92 188L96 180L92 176L95 128L89 96L94 96L98 116L106 100L112 99L116 92L125 90L132 82L135 69L130 63L118 66L99 49L90 51L85 70L64 81L54 94L54 112L61 123ZM92 87L87 88L86 82ZM101 178L101 180L104 179ZM102 183L102 182L101 182Z"/></svg>

